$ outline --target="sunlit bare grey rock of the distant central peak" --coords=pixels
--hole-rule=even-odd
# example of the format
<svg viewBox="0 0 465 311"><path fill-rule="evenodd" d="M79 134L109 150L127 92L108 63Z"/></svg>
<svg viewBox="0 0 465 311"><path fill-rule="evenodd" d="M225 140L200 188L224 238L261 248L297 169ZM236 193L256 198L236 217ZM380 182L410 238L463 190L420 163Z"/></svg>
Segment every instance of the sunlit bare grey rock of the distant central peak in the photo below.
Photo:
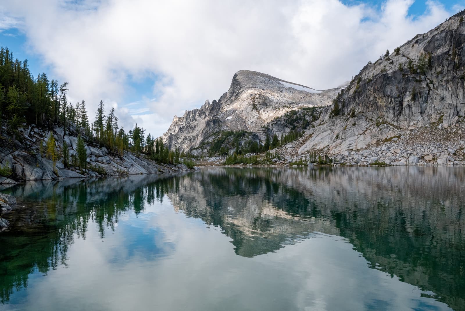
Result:
<svg viewBox="0 0 465 311"><path fill-rule="evenodd" d="M206 101L199 109L175 116L163 140L171 149L186 151L229 130L255 133L263 142L266 134L290 131L288 125L273 120L294 109L330 105L338 91L318 91L268 74L240 70L218 101Z"/></svg>

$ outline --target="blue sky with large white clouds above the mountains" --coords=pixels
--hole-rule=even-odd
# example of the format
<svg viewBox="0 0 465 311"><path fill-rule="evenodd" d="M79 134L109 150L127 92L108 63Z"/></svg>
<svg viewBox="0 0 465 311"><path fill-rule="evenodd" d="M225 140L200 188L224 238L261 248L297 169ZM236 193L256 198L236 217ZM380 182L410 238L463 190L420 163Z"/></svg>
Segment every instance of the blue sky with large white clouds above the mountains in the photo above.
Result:
<svg viewBox="0 0 465 311"><path fill-rule="evenodd" d="M3 0L0 46L34 75L68 81L91 120L103 100L126 129L160 136L241 69L337 87L463 9L465 0Z"/></svg>

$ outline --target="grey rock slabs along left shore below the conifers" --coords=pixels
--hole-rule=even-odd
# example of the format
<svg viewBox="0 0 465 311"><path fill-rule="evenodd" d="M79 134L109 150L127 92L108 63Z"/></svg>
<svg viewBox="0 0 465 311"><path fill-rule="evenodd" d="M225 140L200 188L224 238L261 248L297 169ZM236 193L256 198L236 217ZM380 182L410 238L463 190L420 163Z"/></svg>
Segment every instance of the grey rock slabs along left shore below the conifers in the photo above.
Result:
<svg viewBox="0 0 465 311"><path fill-rule="evenodd" d="M53 180L65 178L85 178L99 175L131 175L146 173L167 173L179 170L188 170L186 165L160 164L147 159L144 155L135 156L125 152L123 156L115 156L103 147L86 142L87 167L84 172L73 165L77 158L78 133L74 130L66 131L58 126L52 129L20 128L15 143L0 147L0 169L11 172L10 176L16 180ZM70 166L65 168L63 159L53 162L46 158L45 144L52 133L55 139L55 149L63 154L64 143L68 149ZM85 136L83 136L85 139ZM5 141L8 137L4 136ZM41 146L42 145L42 146ZM12 185L10 178L0 177L2 186Z"/></svg>

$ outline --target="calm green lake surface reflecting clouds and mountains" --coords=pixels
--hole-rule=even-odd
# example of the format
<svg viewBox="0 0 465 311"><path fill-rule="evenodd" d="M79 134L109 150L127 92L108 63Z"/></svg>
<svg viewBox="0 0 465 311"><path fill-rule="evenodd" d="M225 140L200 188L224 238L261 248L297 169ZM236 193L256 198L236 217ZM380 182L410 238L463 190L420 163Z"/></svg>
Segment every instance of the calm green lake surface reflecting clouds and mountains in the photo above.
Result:
<svg viewBox="0 0 465 311"><path fill-rule="evenodd" d="M465 168L31 182L0 310L465 310ZM23 205L25 207L23 207Z"/></svg>

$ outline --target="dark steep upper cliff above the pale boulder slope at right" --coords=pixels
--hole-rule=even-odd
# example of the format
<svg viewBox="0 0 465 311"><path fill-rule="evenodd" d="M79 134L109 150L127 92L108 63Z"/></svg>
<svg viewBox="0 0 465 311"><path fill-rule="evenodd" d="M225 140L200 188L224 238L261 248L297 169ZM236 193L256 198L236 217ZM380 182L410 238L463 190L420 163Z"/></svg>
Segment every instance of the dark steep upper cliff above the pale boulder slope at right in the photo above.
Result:
<svg viewBox="0 0 465 311"><path fill-rule="evenodd" d="M464 12L407 41L397 52L365 66L339 100L345 114L363 113L408 129L465 116Z"/></svg>

